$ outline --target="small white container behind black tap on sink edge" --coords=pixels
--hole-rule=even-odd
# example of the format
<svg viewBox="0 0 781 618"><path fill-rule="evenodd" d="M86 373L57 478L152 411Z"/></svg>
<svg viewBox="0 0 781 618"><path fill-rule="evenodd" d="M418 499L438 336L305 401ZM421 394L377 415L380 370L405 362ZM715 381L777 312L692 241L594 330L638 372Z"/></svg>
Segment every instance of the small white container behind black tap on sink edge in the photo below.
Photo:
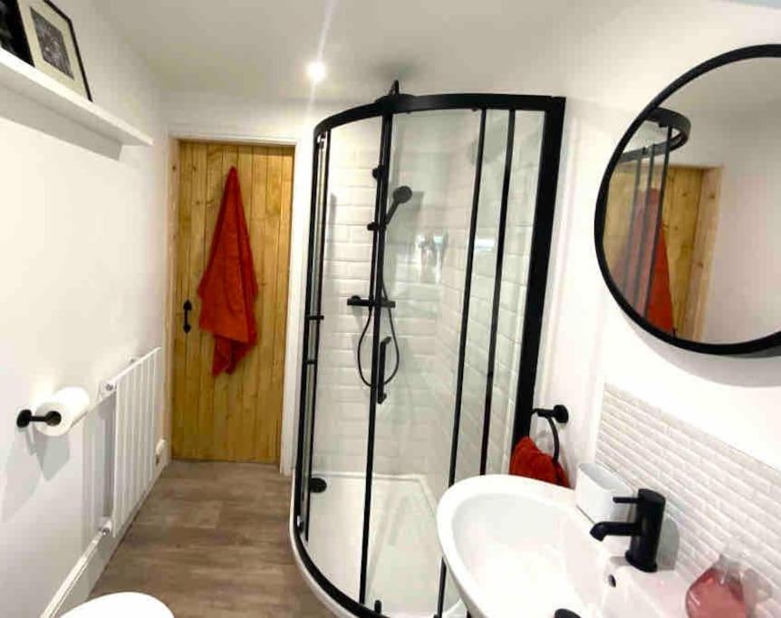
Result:
<svg viewBox="0 0 781 618"><path fill-rule="evenodd" d="M633 496L634 492L619 476L598 463L581 463L575 484L575 504L594 523L626 521L630 505L616 504L613 498Z"/></svg>

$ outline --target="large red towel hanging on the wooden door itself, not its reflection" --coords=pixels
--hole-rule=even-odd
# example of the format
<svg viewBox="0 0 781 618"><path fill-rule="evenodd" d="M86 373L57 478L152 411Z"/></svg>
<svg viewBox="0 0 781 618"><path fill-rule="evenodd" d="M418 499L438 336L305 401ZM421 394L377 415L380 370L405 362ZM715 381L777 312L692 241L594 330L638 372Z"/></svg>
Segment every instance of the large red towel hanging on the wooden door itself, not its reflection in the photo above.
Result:
<svg viewBox="0 0 781 618"><path fill-rule="evenodd" d="M203 300L198 324L215 338L212 374L231 374L257 342L257 280L236 167L227 175L198 296Z"/></svg>

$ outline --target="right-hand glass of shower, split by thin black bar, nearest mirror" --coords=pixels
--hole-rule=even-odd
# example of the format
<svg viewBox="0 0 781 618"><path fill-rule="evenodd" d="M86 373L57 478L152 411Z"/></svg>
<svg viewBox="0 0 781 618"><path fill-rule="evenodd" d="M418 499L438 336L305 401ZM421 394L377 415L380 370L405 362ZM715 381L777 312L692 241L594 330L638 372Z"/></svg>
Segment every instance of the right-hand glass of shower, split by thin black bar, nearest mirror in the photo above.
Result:
<svg viewBox="0 0 781 618"><path fill-rule="evenodd" d="M509 465L506 446L513 430L542 122L543 114L522 111L517 111L512 120L512 160L502 239L510 115L505 110L487 112L469 286L456 482L483 472L506 473ZM463 246L467 251L466 242ZM502 274L495 314L497 265ZM458 590L448 576L445 608L452 597L458 598Z"/></svg>

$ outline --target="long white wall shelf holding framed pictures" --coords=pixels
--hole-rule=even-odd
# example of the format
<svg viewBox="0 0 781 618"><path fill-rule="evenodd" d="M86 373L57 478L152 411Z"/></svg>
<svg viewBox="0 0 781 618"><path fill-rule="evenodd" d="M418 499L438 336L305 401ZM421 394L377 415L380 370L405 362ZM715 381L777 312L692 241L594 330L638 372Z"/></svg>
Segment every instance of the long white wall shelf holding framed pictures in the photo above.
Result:
<svg viewBox="0 0 781 618"><path fill-rule="evenodd" d="M13 90L123 146L152 146L152 138L0 49L0 87Z"/></svg>

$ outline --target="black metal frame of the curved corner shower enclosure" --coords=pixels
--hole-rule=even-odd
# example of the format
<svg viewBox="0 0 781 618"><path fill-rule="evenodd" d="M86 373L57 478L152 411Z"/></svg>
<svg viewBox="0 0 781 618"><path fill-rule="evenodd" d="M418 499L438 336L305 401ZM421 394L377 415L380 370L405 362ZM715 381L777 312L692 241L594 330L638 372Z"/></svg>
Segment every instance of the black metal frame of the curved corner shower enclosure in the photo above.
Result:
<svg viewBox="0 0 781 618"><path fill-rule="evenodd" d="M351 596L344 594L339 588L326 577L322 571L313 563L312 558L307 553L304 541L302 540L302 534L308 532L304 530L301 522L302 513L302 493L303 493L303 464L304 464L304 439L308 435L310 444L308 445L310 450L312 448L312 440L314 434L314 420L316 416L316 390L314 384L316 384L317 374L317 356L319 354L319 347L314 350L315 357L309 358L309 338L312 336L312 324L317 325L317 332L315 333L315 341L320 337L320 323L323 319L321 314L321 298L322 298L322 279L323 279L323 260L322 252L324 245L324 234L321 231L321 260L320 270L318 272L318 299L316 301L316 307L313 307L312 288L313 288L313 267L314 260L317 259L313 252L315 246L315 226L317 222L318 214L318 198L327 199L327 191L323 193L325 195L318 195L315 182L318 180L317 173L319 170L320 157L323 156L320 145L323 140L327 140L328 149L331 144L331 130L333 128L341 127L342 125L350 124L363 119L381 118L381 148L380 148L380 162L377 167L377 191L375 202L375 222L381 222L384 219L385 210L387 208L387 195L388 195L388 173L390 168L390 137L392 133L393 117L396 114L410 113L415 111L432 111L443 109L472 109L481 112L480 117L480 134L478 140L478 157L482 153L482 147L485 137L486 129L486 114L488 110L506 110L509 115L509 123L507 128L508 144L506 153L506 166L505 166L505 182L502 199L502 211L506 215L507 209L507 191L509 177L511 174L511 165L509 157L512 156L514 129L513 121L515 119L516 111L530 111L530 112L542 112L544 114L543 122L543 138L539 153L539 172L537 178L537 192L535 201L535 219L532 232L532 246L529 260L529 272L527 276L526 285L526 298L525 298L525 319L523 326L523 335L521 341L521 358L518 371L518 378L516 384L516 409L515 419L513 423L513 443L516 443L522 436L528 435L531 427L531 419L534 409L534 386L537 372L537 358L539 354L540 338L542 334L543 326L543 312L545 309L545 289L547 286L547 273L548 263L550 261L551 251L551 238L553 234L554 225L554 208L556 200L556 188L558 185L558 172L559 161L562 145L562 134L564 128L564 106L565 100L563 97L549 97L539 95L507 95L507 94L481 94L481 93L461 93L461 94L441 94L441 95L423 95L412 96L409 94L399 94L398 91L391 90L391 93L381 99L374 101L368 105L362 105L360 107L347 109L339 114L331 116L320 122L313 132L313 189L312 189L312 203L310 210L310 229L309 229L309 242L308 242L308 259L307 259L307 275L306 275L306 291L305 291L305 309L304 309L304 358L302 359L301 369L301 390L300 390L300 407L299 407L299 423L298 423L298 443L296 453L296 466L295 466L295 479L294 479L294 496L293 496L293 519L291 534L293 536L293 542L297 549L298 555L306 568L308 574L312 576L313 580L321 587L325 594L328 594L334 602L340 604L342 608L353 613L359 618L377 618L383 614L380 612L372 611L363 602L365 601L365 573L366 573L366 558L367 558L367 544L368 544L368 528L370 526L370 513L371 513L371 480L372 480L372 466L373 466L373 442L374 442L374 421L376 417L376 392L377 392L377 354L379 347L379 337L376 332L380 325L380 320L374 320L374 338L372 340L372 363L371 363L371 395L369 406L369 437L367 444L367 471L366 471L366 490L364 491L364 518L363 518L363 542L362 542L362 568L361 568L361 584L359 590L359 601L356 601ZM327 157L327 155L325 155ZM481 157L480 157L481 159ZM470 248L472 251L468 252L468 265L465 272L465 282L469 285L472 272L471 272L471 254L474 251L474 231L475 231L475 216L477 214L477 204L479 200L479 177L482 172L481 160L478 160L476 164L476 185L473 195L472 204L472 217L470 223ZM327 183L329 169L326 167L325 174ZM326 185L327 186L327 185ZM323 206L324 208L324 206ZM325 222L325 212L323 210L323 221ZM499 229L497 235L500 239L505 237L505 225L506 216L500 217ZM379 286L382 280L382 268L383 268L383 251L384 251L384 229L382 225L375 225L372 242L372 276L371 285L374 290L371 294L371 301L375 306L375 316L379 315L381 302L381 290ZM501 274L501 261L503 256L497 252L497 272ZM500 280L497 281L497 288L500 285ZM468 290L468 288L467 288ZM465 290L465 297L468 297L467 290ZM498 294L498 290L495 290ZM465 306L466 306L465 302ZM497 313L498 303L494 303L491 328L491 339L496 340L497 337ZM467 330L467 318L468 310L462 311L461 316L461 333L462 338ZM465 362L465 355L462 345L459 349L458 367L461 375L463 375L462 366ZM307 373L308 367L313 366L313 390L312 390L312 414L310 419L310 426L304 427L304 421L306 420L306 405L307 400ZM461 379L458 379L457 392L462 386ZM490 405L490 400L487 400L487 405ZM449 482L452 483L454 479L456 455L458 452L458 433L460 426L460 414L459 409L454 414L453 419L453 443L451 444L450 453L450 474ZM309 430L308 432L306 430ZM483 427L483 443L486 442L487 423L484 423ZM313 453L310 452L308 461L307 478L311 479L312 476L312 459ZM482 449L480 470L485 471L486 468L486 449ZM310 494L311 491L307 491ZM306 507L306 523L308 528L309 521L309 506L307 497ZM441 604L444 594L444 565L442 566L442 572L439 583L439 599L438 599L438 615L441 613Z"/></svg>

